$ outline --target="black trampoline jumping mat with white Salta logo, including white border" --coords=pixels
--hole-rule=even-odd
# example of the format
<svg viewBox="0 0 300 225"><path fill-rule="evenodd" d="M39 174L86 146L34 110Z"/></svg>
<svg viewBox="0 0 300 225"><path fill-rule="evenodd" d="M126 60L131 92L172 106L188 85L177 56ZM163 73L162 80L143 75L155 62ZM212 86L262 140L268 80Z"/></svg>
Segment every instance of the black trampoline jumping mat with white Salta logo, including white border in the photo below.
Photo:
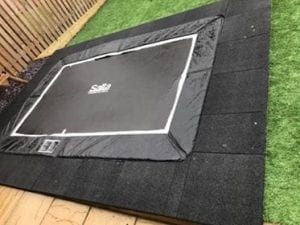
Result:
<svg viewBox="0 0 300 225"><path fill-rule="evenodd" d="M196 35L67 64L12 133L168 133Z"/></svg>

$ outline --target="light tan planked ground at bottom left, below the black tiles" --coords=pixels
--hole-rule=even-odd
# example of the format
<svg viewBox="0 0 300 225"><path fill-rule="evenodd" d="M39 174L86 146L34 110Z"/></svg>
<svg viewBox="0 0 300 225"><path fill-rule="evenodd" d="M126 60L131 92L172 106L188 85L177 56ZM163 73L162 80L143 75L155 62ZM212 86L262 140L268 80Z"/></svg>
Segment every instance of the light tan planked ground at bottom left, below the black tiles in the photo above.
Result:
<svg viewBox="0 0 300 225"><path fill-rule="evenodd" d="M0 186L0 225L167 225L46 195ZM272 225L264 223L264 225Z"/></svg>

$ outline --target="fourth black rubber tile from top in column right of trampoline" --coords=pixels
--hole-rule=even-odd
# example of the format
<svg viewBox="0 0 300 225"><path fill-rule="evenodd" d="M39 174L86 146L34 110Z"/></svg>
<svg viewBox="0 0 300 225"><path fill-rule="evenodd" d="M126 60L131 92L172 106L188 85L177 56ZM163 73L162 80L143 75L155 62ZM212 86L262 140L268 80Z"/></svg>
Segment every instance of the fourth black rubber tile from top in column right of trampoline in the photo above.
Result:
<svg viewBox="0 0 300 225"><path fill-rule="evenodd" d="M215 74L210 81L203 114L264 111L266 70Z"/></svg>

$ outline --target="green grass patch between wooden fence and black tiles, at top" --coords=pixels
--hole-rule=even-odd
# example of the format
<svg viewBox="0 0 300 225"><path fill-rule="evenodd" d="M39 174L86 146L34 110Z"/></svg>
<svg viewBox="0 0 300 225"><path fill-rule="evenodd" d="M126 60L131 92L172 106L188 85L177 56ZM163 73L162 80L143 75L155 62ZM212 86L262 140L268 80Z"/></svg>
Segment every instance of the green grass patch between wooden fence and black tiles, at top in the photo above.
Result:
<svg viewBox="0 0 300 225"><path fill-rule="evenodd" d="M210 2L213 0L107 0L69 44L77 44Z"/></svg>

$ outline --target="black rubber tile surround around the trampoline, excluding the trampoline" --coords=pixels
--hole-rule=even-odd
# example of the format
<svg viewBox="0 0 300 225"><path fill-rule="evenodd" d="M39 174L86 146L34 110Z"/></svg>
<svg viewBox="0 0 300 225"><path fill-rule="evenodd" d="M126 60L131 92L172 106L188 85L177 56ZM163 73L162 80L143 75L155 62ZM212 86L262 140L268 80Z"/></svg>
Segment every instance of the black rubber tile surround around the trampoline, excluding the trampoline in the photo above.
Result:
<svg viewBox="0 0 300 225"><path fill-rule="evenodd" d="M0 183L100 206L196 224L262 224L269 0L228 0L55 53L42 68L85 48L194 21L224 17L191 154L183 161L0 154ZM43 75L0 124L7 125Z"/></svg>

